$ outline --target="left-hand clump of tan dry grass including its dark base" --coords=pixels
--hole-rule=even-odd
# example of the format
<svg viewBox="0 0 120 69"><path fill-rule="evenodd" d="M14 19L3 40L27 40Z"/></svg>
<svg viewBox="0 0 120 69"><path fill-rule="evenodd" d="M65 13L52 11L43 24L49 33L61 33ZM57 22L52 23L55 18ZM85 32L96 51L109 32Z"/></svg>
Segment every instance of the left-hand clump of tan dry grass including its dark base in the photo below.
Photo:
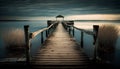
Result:
<svg viewBox="0 0 120 69"><path fill-rule="evenodd" d="M21 29L8 29L3 32L3 40L7 55L17 57L25 52L24 31Z"/></svg>

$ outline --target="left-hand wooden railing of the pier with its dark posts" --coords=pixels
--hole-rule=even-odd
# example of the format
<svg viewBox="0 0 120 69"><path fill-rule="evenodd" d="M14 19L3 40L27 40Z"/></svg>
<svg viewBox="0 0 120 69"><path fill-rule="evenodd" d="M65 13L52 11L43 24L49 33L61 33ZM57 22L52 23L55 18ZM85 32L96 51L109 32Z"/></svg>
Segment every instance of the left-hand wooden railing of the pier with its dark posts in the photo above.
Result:
<svg viewBox="0 0 120 69"><path fill-rule="evenodd" d="M24 32L25 32L25 43L26 43L26 63L29 64L30 63L30 39L33 39L34 37L36 37L38 34L41 34L41 43L44 42L44 36L43 36L43 32L46 32L46 37L48 37L51 34L51 30L55 29L56 26L58 25L57 22L52 22L51 24L48 22L48 27L47 28L43 28L34 32L29 32L29 25L25 25L24 26Z"/></svg>

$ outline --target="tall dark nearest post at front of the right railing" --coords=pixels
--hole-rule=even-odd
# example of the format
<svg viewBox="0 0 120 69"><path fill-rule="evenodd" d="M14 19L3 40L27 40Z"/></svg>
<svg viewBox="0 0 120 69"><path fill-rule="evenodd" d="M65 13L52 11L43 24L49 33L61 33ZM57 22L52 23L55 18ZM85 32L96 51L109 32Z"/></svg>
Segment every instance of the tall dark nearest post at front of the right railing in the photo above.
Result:
<svg viewBox="0 0 120 69"><path fill-rule="evenodd" d="M94 32L94 35L93 35L93 38L94 38L94 60L96 60L96 56L97 56L97 46L95 46L95 43L97 41L97 37L98 37L98 31L99 31L99 25L93 25L93 32Z"/></svg>

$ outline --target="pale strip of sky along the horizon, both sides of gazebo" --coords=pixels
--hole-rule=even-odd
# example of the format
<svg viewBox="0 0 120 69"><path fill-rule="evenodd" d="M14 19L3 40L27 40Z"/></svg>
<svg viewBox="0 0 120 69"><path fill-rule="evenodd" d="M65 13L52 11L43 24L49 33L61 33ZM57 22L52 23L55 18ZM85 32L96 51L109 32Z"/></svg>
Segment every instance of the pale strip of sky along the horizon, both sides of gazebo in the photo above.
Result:
<svg viewBox="0 0 120 69"><path fill-rule="evenodd" d="M35 16L35 17L17 17L7 16L0 18L2 20L55 20L55 16ZM65 20L120 20L120 14L85 14L65 16Z"/></svg>

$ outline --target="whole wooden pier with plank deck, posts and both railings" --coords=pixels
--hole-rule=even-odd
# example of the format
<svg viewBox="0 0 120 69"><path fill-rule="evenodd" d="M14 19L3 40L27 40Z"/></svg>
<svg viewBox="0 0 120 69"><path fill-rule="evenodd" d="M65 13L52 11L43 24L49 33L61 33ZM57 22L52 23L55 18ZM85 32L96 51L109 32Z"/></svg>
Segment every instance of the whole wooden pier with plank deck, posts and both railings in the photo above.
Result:
<svg viewBox="0 0 120 69"><path fill-rule="evenodd" d="M26 61L17 65L40 69L79 69L95 67L93 66L93 62L83 51L83 33L92 35L94 37L94 43L96 42L99 26L93 26L93 28L94 31L91 32L75 27L73 21L48 21L47 28L43 28L35 32L29 32L29 25L25 25ZM73 37L74 29L81 31L80 45ZM47 39L45 41L43 32L46 32ZM41 34L40 42L43 43L43 45L35 56L31 57L30 40L38 34ZM96 60L96 48L94 50L94 59Z"/></svg>

